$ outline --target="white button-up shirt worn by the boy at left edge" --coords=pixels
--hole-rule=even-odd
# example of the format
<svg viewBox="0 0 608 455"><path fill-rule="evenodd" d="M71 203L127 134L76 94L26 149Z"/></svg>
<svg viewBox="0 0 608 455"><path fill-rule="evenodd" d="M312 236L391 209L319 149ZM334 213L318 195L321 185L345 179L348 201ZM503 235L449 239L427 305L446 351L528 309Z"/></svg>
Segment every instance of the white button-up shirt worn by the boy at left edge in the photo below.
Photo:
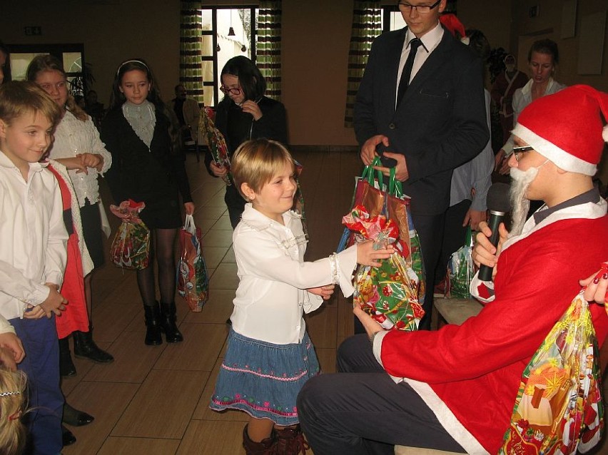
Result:
<svg viewBox="0 0 608 455"><path fill-rule="evenodd" d="M61 285L68 234L59 183L46 163L30 163L28 180L0 151L0 315L22 317Z"/></svg>

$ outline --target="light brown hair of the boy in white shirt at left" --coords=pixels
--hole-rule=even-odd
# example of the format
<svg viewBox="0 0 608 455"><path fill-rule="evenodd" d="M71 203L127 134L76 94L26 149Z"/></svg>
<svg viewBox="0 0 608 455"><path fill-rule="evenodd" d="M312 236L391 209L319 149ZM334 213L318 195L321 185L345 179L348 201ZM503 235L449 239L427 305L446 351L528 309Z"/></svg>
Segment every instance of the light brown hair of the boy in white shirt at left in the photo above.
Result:
<svg viewBox="0 0 608 455"><path fill-rule="evenodd" d="M61 108L33 82L11 81L0 86L0 120L11 124L16 118L41 113L53 127L61 121Z"/></svg>

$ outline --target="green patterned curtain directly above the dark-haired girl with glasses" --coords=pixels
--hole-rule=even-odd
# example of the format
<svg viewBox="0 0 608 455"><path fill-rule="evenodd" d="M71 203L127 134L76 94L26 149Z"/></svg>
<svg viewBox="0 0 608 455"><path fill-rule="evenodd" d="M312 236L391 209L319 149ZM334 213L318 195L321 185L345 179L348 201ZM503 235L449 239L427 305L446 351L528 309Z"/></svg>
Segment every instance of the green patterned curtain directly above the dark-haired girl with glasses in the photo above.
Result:
<svg viewBox="0 0 608 455"><path fill-rule="evenodd" d="M260 0L255 63L267 84L266 96L280 101L280 0Z"/></svg>

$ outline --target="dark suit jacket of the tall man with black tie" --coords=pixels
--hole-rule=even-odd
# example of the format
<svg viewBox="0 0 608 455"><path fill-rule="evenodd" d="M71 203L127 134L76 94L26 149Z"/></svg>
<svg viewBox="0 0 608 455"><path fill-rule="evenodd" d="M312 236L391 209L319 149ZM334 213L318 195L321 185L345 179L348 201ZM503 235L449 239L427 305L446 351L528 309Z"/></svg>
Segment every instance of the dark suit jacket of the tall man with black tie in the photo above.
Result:
<svg viewBox="0 0 608 455"><path fill-rule="evenodd" d="M395 110L397 71L407 27L378 36L355 102L360 145L387 136L387 151L405 155L403 190L412 213L433 215L450 205L452 170L480 153L489 138L482 65L444 29Z"/></svg>

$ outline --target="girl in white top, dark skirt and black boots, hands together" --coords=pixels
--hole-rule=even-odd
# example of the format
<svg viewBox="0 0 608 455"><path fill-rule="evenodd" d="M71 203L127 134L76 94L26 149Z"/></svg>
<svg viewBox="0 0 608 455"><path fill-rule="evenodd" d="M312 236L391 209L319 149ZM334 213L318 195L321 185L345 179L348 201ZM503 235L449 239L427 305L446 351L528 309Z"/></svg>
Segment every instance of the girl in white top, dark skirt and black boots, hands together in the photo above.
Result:
<svg viewBox="0 0 608 455"><path fill-rule="evenodd" d="M84 329L74 326L68 332L74 334L74 355L97 363L109 363L113 357L108 352L99 349L91 337L91 275L92 270L103 265L103 241L101 238L101 198L97 177L110 168L112 158L99 139L99 133L91 117L76 105L74 98L68 92L66 73L61 62L54 56L36 56L28 66L27 78L38 84L59 105L64 112L61 122L54 133L54 143L50 150L50 158L58 161L68 169L74 193L77 198L82 234L87 255L83 255L84 290L88 324ZM102 209L103 210L103 209ZM74 376L76 368L72 362L68 336L59 339L60 370L62 376Z"/></svg>

